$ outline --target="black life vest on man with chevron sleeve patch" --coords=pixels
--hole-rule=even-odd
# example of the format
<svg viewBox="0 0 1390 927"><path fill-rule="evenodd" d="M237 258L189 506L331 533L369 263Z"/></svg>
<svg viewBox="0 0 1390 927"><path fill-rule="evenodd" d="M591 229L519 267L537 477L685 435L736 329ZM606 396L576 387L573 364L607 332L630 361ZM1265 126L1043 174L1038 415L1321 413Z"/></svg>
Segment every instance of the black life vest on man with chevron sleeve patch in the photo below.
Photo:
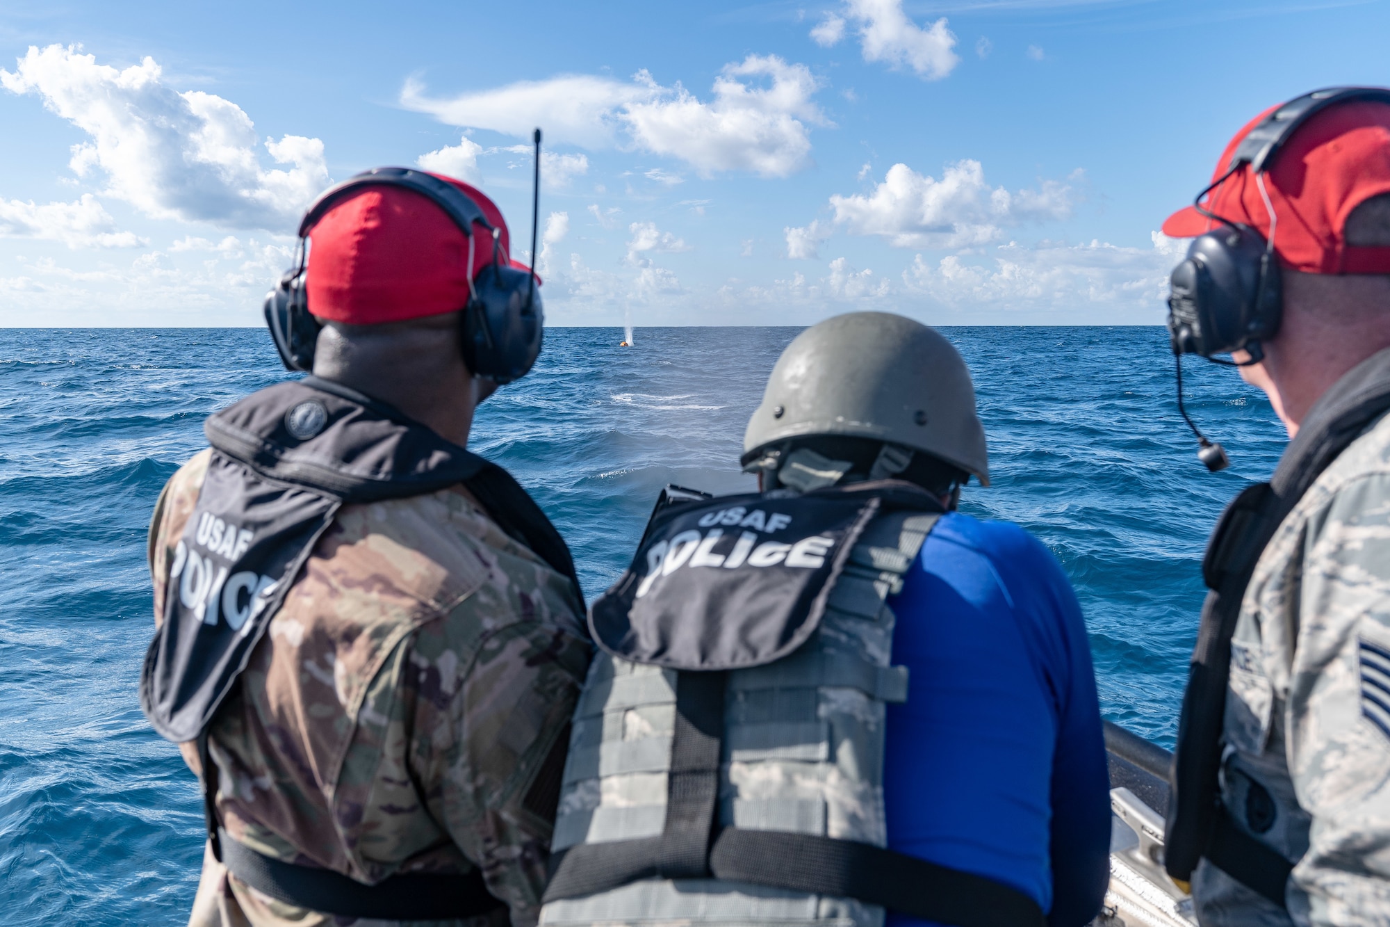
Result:
<svg viewBox="0 0 1390 927"><path fill-rule="evenodd" d="M1191 881L1207 857L1232 878L1283 906L1294 862L1243 830L1220 803L1218 775L1230 642L1255 564L1279 525L1347 447L1390 409L1390 349L1364 360L1314 404L1273 477L1247 486L1226 507L1202 558L1208 587L1188 668L1173 752L1163 866Z"/></svg>

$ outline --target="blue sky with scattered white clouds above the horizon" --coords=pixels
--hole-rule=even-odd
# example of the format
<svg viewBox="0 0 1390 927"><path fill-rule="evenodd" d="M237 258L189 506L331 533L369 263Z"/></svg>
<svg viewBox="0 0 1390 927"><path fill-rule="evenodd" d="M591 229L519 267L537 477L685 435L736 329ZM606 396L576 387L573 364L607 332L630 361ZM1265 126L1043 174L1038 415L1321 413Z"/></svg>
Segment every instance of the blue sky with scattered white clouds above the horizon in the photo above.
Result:
<svg viewBox="0 0 1390 927"><path fill-rule="evenodd" d="M316 193L478 185L548 324L1159 324L1268 106L1390 85L1390 1L0 8L0 326L257 326Z"/></svg>

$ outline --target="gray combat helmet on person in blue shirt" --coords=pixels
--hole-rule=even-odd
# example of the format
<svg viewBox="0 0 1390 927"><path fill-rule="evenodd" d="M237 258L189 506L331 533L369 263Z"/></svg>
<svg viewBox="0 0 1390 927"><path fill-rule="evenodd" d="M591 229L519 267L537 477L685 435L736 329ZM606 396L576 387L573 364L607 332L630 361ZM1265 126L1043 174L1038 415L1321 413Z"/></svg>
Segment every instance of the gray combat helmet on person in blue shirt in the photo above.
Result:
<svg viewBox="0 0 1390 927"><path fill-rule="evenodd" d="M744 433L744 464L787 438L867 437L924 451L990 484L974 386L934 328L887 312L851 312L802 331L767 379Z"/></svg>

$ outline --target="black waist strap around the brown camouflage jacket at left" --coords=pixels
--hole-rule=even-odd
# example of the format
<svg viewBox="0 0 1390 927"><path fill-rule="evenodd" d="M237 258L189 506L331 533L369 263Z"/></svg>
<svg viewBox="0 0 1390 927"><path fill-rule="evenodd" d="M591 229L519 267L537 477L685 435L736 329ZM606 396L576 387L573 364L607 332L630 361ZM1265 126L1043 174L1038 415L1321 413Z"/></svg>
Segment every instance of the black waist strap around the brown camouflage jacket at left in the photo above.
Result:
<svg viewBox="0 0 1390 927"><path fill-rule="evenodd" d="M461 920L502 906L488 894L482 873L466 876L400 873L364 885L329 869L313 869L263 856L221 831L222 863L256 891L322 914L382 920Z"/></svg>

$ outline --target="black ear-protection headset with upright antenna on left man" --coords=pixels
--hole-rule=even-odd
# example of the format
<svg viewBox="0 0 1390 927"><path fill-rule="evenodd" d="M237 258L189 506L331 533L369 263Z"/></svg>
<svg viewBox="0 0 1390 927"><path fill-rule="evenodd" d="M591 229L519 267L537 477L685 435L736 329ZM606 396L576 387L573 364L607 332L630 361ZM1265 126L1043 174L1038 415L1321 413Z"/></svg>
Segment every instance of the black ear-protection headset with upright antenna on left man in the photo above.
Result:
<svg viewBox="0 0 1390 927"><path fill-rule="evenodd" d="M535 189L531 196L531 263L535 264L539 219L541 129L535 131ZM463 309L463 362L474 376L510 383L527 374L541 354L545 313L535 288L535 270L524 271L503 258L502 230L493 228L478 205L457 187L409 167L377 167L329 187L299 223L295 266L265 295L265 324L279 359L289 370L311 370L320 324L309 310L307 235L324 214L366 187L399 187L430 198L468 239L468 302ZM474 237L481 225L492 235L492 263L473 276Z"/></svg>

